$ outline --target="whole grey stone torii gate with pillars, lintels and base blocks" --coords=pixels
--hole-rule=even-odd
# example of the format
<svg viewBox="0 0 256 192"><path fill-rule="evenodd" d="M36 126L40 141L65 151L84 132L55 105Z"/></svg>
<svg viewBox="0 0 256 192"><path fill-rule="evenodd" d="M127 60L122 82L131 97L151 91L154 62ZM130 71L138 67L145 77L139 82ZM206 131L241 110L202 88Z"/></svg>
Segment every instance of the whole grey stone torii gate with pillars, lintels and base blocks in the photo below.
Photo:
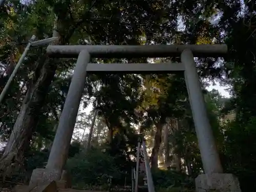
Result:
<svg viewBox="0 0 256 192"><path fill-rule="evenodd" d="M195 57L221 57L226 45L147 45L147 46L54 46L47 48L49 57L78 57L62 110L51 153L45 169L35 169L30 184L59 180L68 157L76 116L84 89L86 74L104 73L169 73L184 71L191 110L196 127L205 174L196 178L197 191L219 189L241 191L238 179L224 174L216 143L206 113L204 97L195 66ZM181 63L89 63L97 58L139 58L180 56ZM86 173L85 173L86 174Z"/></svg>

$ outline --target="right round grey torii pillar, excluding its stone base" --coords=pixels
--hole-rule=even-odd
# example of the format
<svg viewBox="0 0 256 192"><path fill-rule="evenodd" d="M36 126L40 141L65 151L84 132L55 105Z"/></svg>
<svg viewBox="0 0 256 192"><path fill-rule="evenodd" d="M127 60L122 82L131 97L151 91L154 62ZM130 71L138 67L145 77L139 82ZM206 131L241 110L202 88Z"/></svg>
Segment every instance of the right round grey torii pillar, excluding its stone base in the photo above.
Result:
<svg viewBox="0 0 256 192"><path fill-rule="evenodd" d="M214 134L212 133L209 118L207 116L204 95L194 55L191 50L186 49L182 52L181 62L184 63L184 77L204 171L206 174L223 173Z"/></svg>

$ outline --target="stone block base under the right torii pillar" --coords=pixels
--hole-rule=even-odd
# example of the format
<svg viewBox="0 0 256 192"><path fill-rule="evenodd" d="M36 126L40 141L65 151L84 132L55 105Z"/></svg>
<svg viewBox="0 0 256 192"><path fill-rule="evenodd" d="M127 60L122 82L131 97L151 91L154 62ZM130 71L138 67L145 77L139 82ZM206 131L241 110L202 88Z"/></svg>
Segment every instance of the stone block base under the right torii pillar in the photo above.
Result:
<svg viewBox="0 0 256 192"><path fill-rule="evenodd" d="M238 178L232 174L202 174L196 178L196 192L241 192Z"/></svg>

